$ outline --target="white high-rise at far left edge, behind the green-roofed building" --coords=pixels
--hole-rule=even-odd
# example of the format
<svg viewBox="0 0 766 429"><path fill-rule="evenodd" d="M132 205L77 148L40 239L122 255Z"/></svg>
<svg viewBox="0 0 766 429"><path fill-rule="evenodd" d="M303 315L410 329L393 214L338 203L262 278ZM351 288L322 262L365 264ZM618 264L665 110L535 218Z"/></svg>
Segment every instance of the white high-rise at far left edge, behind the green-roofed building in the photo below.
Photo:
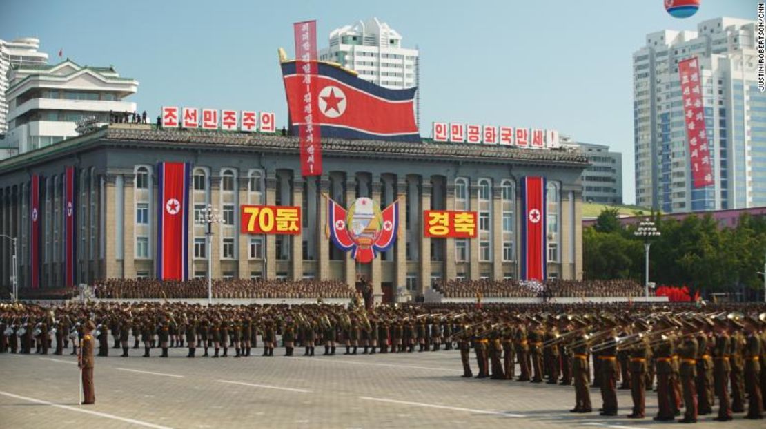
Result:
<svg viewBox="0 0 766 429"><path fill-rule="evenodd" d="M47 63L47 54L38 52L39 47L40 41L34 37L23 37L14 41L0 39L0 139L8 132L8 102L5 99L5 91L8 90L8 70L11 66ZM5 148L5 144L0 143L0 148Z"/></svg>

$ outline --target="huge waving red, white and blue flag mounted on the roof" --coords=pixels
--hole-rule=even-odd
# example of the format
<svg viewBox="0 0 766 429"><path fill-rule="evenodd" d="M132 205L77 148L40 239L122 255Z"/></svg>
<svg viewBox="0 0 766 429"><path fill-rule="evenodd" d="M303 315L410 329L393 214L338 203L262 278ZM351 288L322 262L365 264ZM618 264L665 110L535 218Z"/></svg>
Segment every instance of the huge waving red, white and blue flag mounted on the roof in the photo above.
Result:
<svg viewBox="0 0 766 429"><path fill-rule="evenodd" d="M296 61L283 62L282 74L293 135L296 127L311 123L319 125L322 137L421 141L414 115L417 88L384 88L317 62L311 83L318 111L306 112L305 74L296 70Z"/></svg>

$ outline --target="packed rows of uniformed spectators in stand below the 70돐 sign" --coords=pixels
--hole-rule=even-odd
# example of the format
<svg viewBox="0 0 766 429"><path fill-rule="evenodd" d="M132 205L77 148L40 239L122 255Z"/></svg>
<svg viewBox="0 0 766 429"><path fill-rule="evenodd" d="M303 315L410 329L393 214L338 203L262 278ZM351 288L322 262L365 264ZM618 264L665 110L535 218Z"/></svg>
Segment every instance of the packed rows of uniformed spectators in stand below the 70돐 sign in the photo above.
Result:
<svg viewBox="0 0 766 429"><path fill-rule="evenodd" d="M292 280L214 280L214 298L350 298L355 290L343 281L306 279ZM97 298L206 298L208 281L195 278L187 281L159 281L156 279L110 278L93 285Z"/></svg>

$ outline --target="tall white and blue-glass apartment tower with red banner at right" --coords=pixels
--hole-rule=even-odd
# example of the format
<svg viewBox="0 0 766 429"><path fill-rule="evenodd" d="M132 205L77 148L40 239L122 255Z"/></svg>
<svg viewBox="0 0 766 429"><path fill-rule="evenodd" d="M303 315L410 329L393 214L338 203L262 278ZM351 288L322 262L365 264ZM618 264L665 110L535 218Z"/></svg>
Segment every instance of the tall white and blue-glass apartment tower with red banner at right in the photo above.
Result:
<svg viewBox="0 0 766 429"><path fill-rule="evenodd" d="M714 184L692 187L678 63L699 59ZM636 203L666 213L766 206L766 93L756 24L702 21L658 31L633 54Z"/></svg>

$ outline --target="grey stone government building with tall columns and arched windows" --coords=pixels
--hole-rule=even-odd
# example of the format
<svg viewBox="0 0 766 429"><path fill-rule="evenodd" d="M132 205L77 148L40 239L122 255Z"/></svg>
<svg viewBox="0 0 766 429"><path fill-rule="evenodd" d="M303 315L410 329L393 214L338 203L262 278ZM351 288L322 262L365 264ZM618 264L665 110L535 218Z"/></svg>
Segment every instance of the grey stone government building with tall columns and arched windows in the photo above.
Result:
<svg viewBox="0 0 766 429"><path fill-rule="evenodd" d="M548 179L548 273L582 277L580 176L583 154L455 143L325 139L321 177L301 177L298 138L282 135L156 130L114 124L0 161L0 233L16 236L19 287L30 283L31 174L41 174L41 285L64 282L64 168L77 168L77 282L155 275L159 161L193 165L188 207L189 273L213 278L330 278L353 284L358 267L326 235L326 193L344 206L401 197L400 232L391 250L362 265L375 294L425 291L441 278L519 275L520 177ZM198 210L211 203L225 225L211 249ZM241 204L303 207L300 236L240 233ZM476 239L430 239L422 210L479 213ZM0 246L0 286L10 288L11 246Z"/></svg>

